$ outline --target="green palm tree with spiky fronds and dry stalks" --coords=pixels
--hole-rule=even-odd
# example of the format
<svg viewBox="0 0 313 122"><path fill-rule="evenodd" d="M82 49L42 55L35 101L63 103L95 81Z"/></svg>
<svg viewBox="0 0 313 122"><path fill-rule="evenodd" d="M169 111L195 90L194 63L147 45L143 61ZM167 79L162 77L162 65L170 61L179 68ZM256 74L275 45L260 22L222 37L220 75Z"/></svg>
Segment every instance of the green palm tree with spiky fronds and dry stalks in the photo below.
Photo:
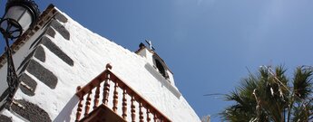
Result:
<svg viewBox="0 0 313 122"><path fill-rule="evenodd" d="M292 79L283 67L263 66L241 80L240 87L225 96L234 104L220 116L239 122L305 122L313 120L312 69L298 67Z"/></svg>

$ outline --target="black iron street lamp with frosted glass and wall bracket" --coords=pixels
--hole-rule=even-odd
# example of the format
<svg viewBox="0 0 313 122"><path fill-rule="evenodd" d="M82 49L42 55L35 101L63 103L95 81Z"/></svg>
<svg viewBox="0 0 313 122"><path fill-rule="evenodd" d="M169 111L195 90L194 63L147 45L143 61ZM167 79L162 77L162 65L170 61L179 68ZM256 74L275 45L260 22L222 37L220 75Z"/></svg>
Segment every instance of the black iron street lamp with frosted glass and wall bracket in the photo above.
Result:
<svg viewBox="0 0 313 122"><path fill-rule="evenodd" d="M15 72L9 39L14 40L28 28L33 27L39 17L38 5L33 0L8 0L5 5L5 14L0 21L0 31L5 38L5 54L7 59L6 81L9 87L7 105L11 105L19 81Z"/></svg>

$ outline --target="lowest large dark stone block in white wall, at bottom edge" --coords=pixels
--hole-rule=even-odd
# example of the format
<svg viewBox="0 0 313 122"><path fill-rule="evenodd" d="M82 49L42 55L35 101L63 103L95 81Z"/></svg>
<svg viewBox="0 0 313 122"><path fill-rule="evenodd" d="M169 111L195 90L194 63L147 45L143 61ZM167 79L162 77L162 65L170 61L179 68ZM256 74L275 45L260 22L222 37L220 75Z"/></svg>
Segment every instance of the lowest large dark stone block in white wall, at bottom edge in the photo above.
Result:
<svg viewBox="0 0 313 122"><path fill-rule="evenodd" d="M15 100L17 103L21 104L24 108L20 108L13 104L11 106L12 110L15 111L21 117L31 121L31 122L51 122L51 118L48 113L44 111L43 108L38 107L37 105L28 102L24 99Z"/></svg>

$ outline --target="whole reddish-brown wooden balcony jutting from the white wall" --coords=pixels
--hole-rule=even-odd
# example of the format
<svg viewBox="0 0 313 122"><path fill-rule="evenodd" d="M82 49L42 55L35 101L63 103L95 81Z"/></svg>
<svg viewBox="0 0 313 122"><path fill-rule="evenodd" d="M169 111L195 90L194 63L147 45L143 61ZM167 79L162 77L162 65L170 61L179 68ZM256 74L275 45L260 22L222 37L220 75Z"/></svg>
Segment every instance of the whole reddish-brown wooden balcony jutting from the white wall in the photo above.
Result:
<svg viewBox="0 0 313 122"><path fill-rule="evenodd" d="M76 96L80 98L76 122L171 122L112 73L110 64L83 88L78 87Z"/></svg>

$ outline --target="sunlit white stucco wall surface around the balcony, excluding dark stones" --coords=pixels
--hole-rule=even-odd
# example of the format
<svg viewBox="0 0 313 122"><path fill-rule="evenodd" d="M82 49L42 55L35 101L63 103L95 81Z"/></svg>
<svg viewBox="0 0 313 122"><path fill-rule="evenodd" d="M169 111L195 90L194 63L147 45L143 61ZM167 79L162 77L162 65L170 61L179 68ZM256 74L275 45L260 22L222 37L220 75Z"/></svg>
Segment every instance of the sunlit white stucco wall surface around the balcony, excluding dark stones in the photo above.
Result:
<svg viewBox="0 0 313 122"><path fill-rule="evenodd" d="M33 97L27 96L18 89L15 99L26 99L40 108L44 108L52 120L74 121L75 105L78 100L74 96L76 87L83 86L93 80L94 77L105 70L107 63L111 63L112 71L117 76L172 121L201 121L183 96L180 96L178 89L166 84L167 81L161 77L161 74L152 69L152 65L146 58L89 31L67 15L65 16L68 22L63 24L70 32L70 40L65 40L59 33L56 33L54 38L49 38L73 60L74 65L69 66L44 45L41 45L44 47L46 60L44 62L35 58L34 60L54 73L58 78L57 86L55 89L49 89L32 74L26 72L38 83L35 95ZM29 42L34 41L30 40ZM21 48L15 55L24 57L26 55L24 53L31 52L27 48L28 46ZM23 60L23 58L16 56L15 59ZM4 68L0 70L0 72L3 71ZM1 73L0 78L3 79L3 76L4 73ZM71 112L72 109L73 112ZM5 112L7 113L7 111ZM71 113L71 117L67 117Z"/></svg>

